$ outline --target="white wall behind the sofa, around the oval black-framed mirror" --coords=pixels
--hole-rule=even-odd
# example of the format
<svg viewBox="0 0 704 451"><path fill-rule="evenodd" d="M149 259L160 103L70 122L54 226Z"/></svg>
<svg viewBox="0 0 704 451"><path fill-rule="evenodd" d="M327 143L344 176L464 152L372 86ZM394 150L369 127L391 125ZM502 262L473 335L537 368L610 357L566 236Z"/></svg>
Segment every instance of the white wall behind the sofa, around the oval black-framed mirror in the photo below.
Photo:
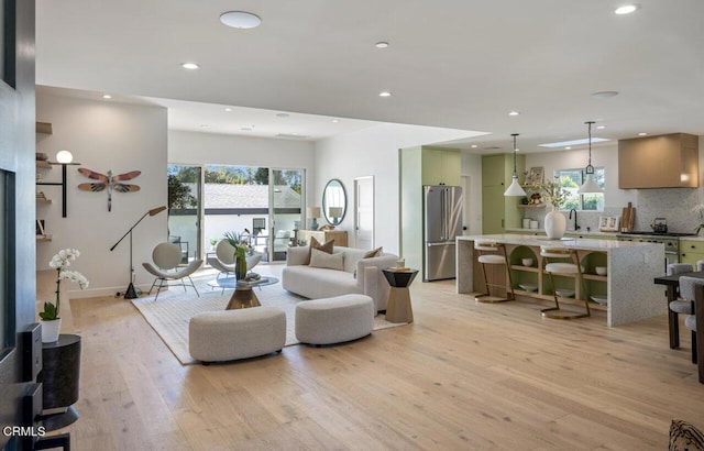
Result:
<svg viewBox="0 0 704 451"><path fill-rule="evenodd" d="M374 242L398 254L398 151L465 135L461 130L384 123L318 141L311 205L320 206L326 183L339 178L348 193L348 213L337 229L346 230L350 246L354 246L354 178L374 176Z"/></svg>

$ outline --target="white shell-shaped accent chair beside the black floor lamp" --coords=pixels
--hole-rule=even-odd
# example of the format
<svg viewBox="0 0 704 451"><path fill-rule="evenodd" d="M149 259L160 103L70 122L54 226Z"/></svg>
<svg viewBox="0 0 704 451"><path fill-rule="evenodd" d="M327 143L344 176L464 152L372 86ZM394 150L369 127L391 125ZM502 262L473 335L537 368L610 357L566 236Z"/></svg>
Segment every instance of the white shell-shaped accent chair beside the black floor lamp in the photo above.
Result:
<svg viewBox="0 0 704 451"><path fill-rule="evenodd" d="M182 262L180 246L175 243L160 243L152 251L152 261L156 266L152 265L151 263L142 263L142 266L144 266L144 268L148 271L150 274L156 277L154 279L154 283L152 284L152 287L150 288L150 293L147 294L151 295L154 286L158 284L156 288L156 297L154 298L154 300L158 298L158 294L163 287L169 286L169 280L180 282L176 285L183 286L184 292L186 290L187 286L193 287L196 292L196 295L200 297L200 294L198 293L194 280L190 278L190 275L198 271L200 265L202 265L202 260L196 258L187 266L179 268L178 265ZM188 279L189 284L186 284L186 278Z"/></svg>

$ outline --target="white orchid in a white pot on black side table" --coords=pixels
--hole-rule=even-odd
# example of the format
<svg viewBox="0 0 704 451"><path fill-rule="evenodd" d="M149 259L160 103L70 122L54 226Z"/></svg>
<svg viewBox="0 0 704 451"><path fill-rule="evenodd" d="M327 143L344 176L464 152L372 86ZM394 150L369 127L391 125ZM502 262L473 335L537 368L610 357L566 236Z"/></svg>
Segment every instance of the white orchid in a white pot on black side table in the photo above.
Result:
<svg viewBox="0 0 704 451"><path fill-rule="evenodd" d="M48 266L56 270L56 302L44 302L44 310L40 311L43 343L53 343L58 340L62 327L62 319L59 317L62 306L62 280L74 280L78 286L80 286L80 289L88 286L88 279L86 276L77 271L65 270L67 266L70 266L70 262L75 261L79 255L80 252L76 249L64 249L58 251L58 253L48 262Z"/></svg>

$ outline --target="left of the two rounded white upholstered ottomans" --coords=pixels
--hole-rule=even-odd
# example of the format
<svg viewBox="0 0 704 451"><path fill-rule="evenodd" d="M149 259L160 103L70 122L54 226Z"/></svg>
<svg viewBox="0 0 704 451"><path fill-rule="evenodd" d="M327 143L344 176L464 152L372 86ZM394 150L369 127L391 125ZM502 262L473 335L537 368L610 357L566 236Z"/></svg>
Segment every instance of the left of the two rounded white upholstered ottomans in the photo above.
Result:
<svg viewBox="0 0 704 451"><path fill-rule="evenodd" d="M188 323L190 355L205 364L280 351L286 314L277 307L206 311Z"/></svg>

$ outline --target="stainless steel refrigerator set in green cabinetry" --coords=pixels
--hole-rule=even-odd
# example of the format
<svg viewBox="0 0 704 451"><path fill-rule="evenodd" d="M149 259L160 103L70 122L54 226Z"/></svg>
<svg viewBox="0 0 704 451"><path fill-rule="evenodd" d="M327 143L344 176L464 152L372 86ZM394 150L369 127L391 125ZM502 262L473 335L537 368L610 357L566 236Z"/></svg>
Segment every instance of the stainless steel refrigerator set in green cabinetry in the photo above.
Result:
<svg viewBox="0 0 704 451"><path fill-rule="evenodd" d="M462 188L424 186L424 280L455 277L455 237L462 234Z"/></svg>

